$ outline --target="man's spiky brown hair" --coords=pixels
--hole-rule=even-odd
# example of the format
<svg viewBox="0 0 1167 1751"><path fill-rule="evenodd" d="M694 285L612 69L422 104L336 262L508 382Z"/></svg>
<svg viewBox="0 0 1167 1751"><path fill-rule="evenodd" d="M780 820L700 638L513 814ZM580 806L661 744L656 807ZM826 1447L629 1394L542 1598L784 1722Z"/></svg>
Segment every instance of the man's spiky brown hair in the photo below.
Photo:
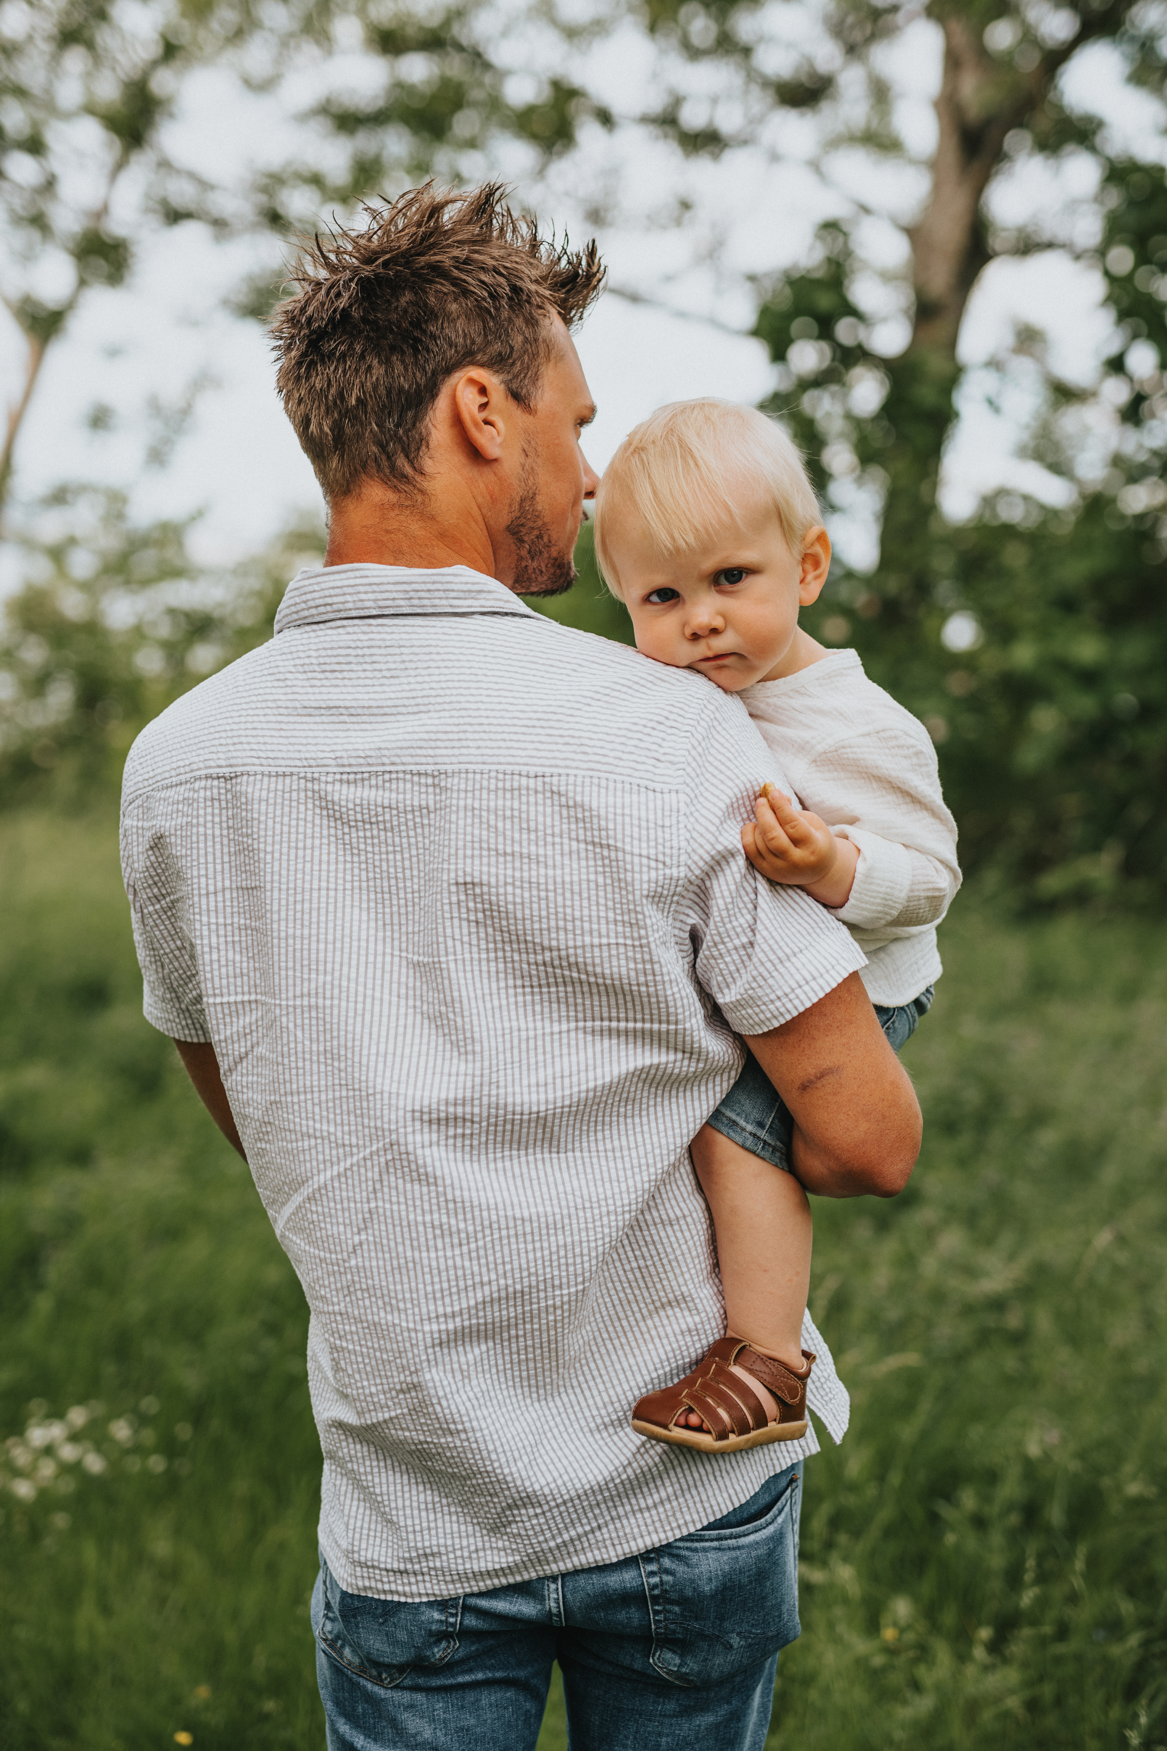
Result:
<svg viewBox="0 0 1167 1751"><path fill-rule="evenodd" d="M301 247L299 291L271 322L276 387L329 501L362 480L416 487L441 385L465 366L495 371L530 408L551 317L572 327L604 282L595 242L541 238L497 182L427 184L364 212L364 229Z"/></svg>

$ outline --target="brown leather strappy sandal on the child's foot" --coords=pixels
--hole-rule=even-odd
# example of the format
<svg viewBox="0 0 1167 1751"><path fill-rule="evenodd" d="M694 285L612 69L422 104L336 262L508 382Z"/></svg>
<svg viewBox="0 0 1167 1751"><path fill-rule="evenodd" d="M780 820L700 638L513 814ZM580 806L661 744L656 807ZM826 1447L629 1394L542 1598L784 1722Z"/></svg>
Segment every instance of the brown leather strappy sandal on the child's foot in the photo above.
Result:
<svg viewBox="0 0 1167 1751"><path fill-rule="evenodd" d="M815 1357L803 1350L807 1371L793 1373L772 1355L751 1350L744 1338L719 1338L710 1345L691 1375L675 1387L637 1399L632 1427L651 1441L696 1446L703 1453L737 1453L744 1446L766 1441L796 1441L807 1434L807 1382ZM754 1375L779 1401L779 1415L770 1422L766 1410L733 1364ZM696 1411L714 1434L703 1429L677 1429L682 1411Z"/></svg>

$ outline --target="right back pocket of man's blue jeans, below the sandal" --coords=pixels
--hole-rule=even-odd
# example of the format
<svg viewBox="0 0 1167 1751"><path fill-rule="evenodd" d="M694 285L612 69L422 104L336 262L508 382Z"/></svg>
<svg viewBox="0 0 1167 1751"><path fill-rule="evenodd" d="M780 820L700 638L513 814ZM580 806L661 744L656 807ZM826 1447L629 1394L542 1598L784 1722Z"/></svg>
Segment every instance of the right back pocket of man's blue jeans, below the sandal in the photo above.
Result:
<svg viewBox="0 0 1167 1751"><path fill-rule="evenodd" d="M661 1677L721 1684L798 1637L800 1488L794 1474L763 1518L689 1532L640 1558Z"/></svg>

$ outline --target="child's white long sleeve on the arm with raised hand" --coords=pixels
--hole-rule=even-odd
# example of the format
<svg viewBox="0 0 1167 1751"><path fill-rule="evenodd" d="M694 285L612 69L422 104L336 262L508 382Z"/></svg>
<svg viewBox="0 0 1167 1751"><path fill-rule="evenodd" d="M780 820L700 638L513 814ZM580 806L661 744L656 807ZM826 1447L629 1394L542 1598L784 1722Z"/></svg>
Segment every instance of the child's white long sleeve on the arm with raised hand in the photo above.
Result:
<svg viewBox="0 0 1167 1751"><path fill-rule="evenodd" d="M826 749L803 777L803 807L859 851L847 905L856 930L938 925L961 886L957 826L945 807L936 751L880 725Z"/></svg>

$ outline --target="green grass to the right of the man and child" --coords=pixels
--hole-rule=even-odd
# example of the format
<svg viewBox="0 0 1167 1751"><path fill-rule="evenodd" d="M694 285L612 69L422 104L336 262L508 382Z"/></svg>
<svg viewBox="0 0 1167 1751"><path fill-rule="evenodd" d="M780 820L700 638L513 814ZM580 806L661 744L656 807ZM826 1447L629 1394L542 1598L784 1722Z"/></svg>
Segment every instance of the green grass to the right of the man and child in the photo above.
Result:
<svg viewBox="0 0 1167 1751"><path fill-rule="evenodd" d="M815 1206L854 1427L807 1467L773 1744L1158 1744L1167 939L973 898L945 963L908 1192Z"/></svg>

